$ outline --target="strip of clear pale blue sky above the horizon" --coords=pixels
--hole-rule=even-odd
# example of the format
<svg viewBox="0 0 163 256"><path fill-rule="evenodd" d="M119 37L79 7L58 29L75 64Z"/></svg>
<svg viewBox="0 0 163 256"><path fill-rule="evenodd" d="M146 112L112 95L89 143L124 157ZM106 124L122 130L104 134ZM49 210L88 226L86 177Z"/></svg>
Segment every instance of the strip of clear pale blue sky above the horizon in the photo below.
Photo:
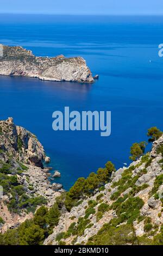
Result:
<svg viewBox="0 0 163 256"><path fill-rule="evenodd" d="M0 0L0 13L163 14L163 0Z"/></svg>

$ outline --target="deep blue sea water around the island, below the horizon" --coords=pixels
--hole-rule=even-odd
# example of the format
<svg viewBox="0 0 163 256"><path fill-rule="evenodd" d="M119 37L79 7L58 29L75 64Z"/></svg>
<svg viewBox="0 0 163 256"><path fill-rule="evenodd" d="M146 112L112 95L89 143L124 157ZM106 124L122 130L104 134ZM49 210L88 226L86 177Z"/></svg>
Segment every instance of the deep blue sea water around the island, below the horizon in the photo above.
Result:
<svg viewBox="0 0 163 256"><path fill-rule="evenodd" d="M66 189L80 176L130 163L130 146L147 140L147 129L163 129L163 17L160 16L0 16L0 43L21 45L36 56L82 56L93 84L0 77L0 119L35 133L61 172ZM52 113L111 111L111 136L98 131L53 131Z"/></svg>

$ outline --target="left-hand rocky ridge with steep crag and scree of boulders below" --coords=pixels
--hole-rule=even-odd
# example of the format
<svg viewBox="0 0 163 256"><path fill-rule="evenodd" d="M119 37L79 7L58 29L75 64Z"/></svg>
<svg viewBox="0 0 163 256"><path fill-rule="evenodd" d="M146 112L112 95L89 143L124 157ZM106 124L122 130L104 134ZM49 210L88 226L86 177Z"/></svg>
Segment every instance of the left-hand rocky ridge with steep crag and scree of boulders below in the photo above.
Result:
<svg viewBox="0 0 163 256"><path fill-rule="evenodd" d="M4 188L0 199L0 218L4 224L0 223L0 233L33 217L34 211L29 209L27 212L27 205L22 207L21 200L30 202L30 198L41 198L41 204L49 208L64 191L62 185L51 185L48 181L48 169L43 167L46 158L43 146L33 133L16 126L12 118L0 121L0 185ZM15 191L19 197L15 203L20 204L20 209L12 211L8 206L15 200Z"/></svg>

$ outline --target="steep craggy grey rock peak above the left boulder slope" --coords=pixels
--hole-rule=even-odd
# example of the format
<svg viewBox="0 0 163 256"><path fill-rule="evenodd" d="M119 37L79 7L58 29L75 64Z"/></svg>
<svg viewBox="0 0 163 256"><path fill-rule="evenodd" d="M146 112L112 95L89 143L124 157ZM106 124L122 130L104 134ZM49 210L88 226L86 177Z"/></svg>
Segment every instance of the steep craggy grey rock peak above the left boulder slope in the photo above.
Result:
<svg viewBox="0 0 163 256"><path fill-rule="evenodd" d="M10 154L23 163L43 168L45 151L41 143L33 133L16 126L12 118L0 121L0 149L4 161Z"/></svg>

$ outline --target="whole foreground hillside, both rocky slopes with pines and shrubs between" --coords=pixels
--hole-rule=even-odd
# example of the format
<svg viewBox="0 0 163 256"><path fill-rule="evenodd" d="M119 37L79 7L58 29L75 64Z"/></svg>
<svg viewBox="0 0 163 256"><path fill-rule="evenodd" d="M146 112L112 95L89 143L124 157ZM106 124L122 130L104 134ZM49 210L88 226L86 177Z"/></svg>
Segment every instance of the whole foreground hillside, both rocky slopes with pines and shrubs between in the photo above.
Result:
<svg viewBox="0 0 163 256"><path fill-rule="evenodd" d="M12 119L0 127L1 245L163 245L161 131L151 152L141 151L137 159L133 155L128 168L116 170L107 162L97 173L79 178L70 191L57 192L35 166L42 167L45 158L35 136Z"/></svg>

